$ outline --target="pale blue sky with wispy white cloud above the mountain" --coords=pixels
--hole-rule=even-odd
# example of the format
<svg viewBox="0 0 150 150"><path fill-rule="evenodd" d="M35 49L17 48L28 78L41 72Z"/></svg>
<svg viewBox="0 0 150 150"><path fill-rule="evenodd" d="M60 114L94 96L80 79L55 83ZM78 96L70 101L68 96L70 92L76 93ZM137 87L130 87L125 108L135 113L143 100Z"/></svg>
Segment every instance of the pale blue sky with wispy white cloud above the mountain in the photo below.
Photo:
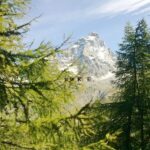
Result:
<svg viewBox="0 0 150 150"><path fill-rule="evenodd" d="M51 41L57 46L64 34L71 41L96 32L112 50L124 33L124 26L133 26L145 18L150 26L150 0L32 0L26 19L41 17L32 24L26 41L37 45Z"/></svg>

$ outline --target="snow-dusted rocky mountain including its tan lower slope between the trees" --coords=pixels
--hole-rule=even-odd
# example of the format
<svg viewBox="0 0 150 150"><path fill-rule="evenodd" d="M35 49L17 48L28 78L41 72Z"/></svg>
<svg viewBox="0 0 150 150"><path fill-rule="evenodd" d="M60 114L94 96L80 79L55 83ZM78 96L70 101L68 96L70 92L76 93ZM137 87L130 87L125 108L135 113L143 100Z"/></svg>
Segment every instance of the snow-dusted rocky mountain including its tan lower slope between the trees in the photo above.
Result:
<svg viewBox="0 0 150 150"><path fill-rule="evenodd" d="M79 94L80 99L82 97L89 101L101 91L109 93L111 90L115 60L115 55L99 35L90 33L64 50L61 56L61 68L68 68L74 74L91 77L92 81L84 83L86 88Z"/></svg>

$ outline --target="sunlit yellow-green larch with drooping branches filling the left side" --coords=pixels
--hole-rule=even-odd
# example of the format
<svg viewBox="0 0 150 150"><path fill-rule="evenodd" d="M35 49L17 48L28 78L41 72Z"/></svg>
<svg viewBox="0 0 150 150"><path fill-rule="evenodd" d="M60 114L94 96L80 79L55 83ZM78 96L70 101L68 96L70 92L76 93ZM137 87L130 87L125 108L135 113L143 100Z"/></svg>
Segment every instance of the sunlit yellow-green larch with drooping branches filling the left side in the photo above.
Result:
<svg viewBox="0 0 150 150"><path fill-rule="evenodd" d="M63 106L73 98L74 85L60 71L58 48L41 43L26 49L22 36L32 21L17 25L30 1L0 0L0 148L55 147ZM55 143L55 144L54 144ZM57 143L57 144L56 144Z"/></svg>

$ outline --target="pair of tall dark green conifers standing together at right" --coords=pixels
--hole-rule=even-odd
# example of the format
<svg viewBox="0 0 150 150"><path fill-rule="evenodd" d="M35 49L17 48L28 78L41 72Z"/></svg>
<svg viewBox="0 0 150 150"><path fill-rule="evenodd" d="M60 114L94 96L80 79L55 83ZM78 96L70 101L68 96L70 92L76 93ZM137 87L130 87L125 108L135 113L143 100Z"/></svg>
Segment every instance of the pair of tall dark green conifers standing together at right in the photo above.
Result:
<svg viewBox="0 0 150 150"><path fill-rule="evenodd" d="M150 32L144 20L134 30L125 28L125 37L118 52L116 85L120 101L125 103L126 121L123 132L126 149L146 149L149 112ZM145 130L145 131L144 131ZM136 143L137 142L137 143Z"/></svg>

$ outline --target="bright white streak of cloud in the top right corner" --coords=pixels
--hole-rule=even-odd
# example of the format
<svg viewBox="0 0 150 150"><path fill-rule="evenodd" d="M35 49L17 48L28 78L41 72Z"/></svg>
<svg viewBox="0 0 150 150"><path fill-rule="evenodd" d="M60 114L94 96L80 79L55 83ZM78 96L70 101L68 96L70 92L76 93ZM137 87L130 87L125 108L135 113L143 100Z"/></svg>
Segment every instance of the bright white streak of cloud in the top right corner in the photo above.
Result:
<svg viewBox="0 0 150 150"><path fill-rule="evenodd" d="M90 15L118 15L120 13L132 13L149 4L150 0L110 0L91 10ZM141 13L143 12L141 11Z"/></svg>

